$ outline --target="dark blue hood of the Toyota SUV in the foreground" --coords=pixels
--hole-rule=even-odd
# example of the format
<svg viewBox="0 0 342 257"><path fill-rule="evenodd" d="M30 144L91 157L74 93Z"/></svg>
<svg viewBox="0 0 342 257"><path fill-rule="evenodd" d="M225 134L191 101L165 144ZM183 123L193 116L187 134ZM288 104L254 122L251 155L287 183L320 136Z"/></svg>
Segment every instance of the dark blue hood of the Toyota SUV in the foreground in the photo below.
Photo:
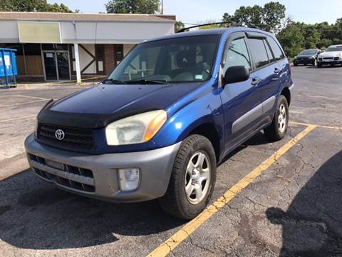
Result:
<svg viewBox="0 0 342 257"><path fill-rule="evenodd" d="M48 104L38 114L38 121L100 128L126 116L157 109L165 110L199 84L100 84Z"/></svg>

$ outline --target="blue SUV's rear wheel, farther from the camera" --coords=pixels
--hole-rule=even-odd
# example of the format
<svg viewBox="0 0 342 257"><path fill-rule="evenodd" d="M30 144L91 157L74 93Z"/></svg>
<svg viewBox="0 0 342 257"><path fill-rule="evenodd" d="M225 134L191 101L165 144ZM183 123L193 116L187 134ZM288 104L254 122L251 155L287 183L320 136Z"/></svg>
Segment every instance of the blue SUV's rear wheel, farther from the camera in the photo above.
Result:
<svg viewBox="0 0 342 257"><path fill-rule="evenodd" d="M281 95L276 104L276 113L272 124L264 129L265 136L272 141L278 141L286 135L289 125L289 104L285 96Z"/></svg>

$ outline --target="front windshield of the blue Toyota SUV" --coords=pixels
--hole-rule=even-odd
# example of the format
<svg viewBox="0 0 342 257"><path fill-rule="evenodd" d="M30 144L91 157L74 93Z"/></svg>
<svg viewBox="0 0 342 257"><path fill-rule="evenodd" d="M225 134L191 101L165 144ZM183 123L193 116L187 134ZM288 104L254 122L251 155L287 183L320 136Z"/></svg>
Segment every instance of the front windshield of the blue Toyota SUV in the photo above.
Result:
<svg viewBox="0 0 342 257"><path fill-rule="evenodd" d="M107 81L147 84L206 81L212 72L219 35L183 36L139 44Z"/></svg>

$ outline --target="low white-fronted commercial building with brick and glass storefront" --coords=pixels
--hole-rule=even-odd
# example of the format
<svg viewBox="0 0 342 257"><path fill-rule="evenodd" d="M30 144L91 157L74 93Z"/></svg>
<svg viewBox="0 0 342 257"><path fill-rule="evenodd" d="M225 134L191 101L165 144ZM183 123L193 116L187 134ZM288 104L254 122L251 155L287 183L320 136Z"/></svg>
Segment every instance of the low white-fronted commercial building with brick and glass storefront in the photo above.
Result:
<svg viewBox="0 0 342 257"><path fill-rule="evenodd" d="M0 47L17 49L19 81L105 76L135 44L175 32L175 16L0 12Z"/></svg>

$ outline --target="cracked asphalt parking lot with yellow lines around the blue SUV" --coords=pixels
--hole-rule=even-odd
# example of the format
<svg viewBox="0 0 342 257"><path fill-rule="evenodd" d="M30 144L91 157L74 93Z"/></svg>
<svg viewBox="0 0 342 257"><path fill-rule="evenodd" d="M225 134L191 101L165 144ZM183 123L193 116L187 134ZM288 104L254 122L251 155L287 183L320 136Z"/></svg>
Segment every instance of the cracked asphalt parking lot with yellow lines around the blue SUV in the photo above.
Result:
<svg viewBox="0 0 342 257"><path fill-rule="evenodd" d="M0 91L0 256L342 256L342 67L293 67L289 133L258 133L217 169L190 223L157 201L75 196L28 170L24 138L48 99L79 86Z"/></svg>

